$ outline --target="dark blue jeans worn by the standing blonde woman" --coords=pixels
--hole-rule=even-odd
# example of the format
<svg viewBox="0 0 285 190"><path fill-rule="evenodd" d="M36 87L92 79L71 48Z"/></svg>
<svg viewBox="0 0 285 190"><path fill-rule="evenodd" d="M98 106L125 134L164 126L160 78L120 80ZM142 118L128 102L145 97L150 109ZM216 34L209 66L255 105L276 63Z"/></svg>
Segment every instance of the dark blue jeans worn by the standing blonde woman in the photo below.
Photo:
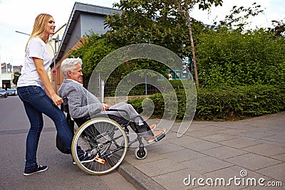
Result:
<svg viewBox="0 0 285 190"><path fill-rule="evenodd" d="M71 149L73 134L66 122L66 115L58 106L53 104L53 101L46 95L43 89L38 86L26 86L19 87L17 90L31 124L26 138L26 167L37 164L36 150L38 149L38 140L43 129L43 114L53 120L59 137L66 144L66 147Z"/></svg>

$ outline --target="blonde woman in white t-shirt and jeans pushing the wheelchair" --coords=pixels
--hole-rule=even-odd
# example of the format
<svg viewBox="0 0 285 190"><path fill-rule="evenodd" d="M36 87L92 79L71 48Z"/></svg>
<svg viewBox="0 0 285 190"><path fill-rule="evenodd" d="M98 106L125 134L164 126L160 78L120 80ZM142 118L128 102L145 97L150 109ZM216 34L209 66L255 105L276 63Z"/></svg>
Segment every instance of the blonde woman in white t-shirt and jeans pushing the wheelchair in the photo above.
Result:
<svg viewBox="0 0 285 190"><path fill-rule="evenodd" d="M58 135L63 139L66 147L71 149L73 134L68 127L65 115L58 108L63 100L53 90L48 79L51 57L46 49L46 42L54 33L55 28L53 16L49 14L36 16L33 31L26 44L24 65L17 84L19 97L24 103L30 122L30 130L26 137L25 176L48 169L47 166L41 166L36 161L38 140L43 129L43 114L53 120ZM83 154L83 152L78 154ZM88 159L90 158L83 157L83 161Z"/></svg>

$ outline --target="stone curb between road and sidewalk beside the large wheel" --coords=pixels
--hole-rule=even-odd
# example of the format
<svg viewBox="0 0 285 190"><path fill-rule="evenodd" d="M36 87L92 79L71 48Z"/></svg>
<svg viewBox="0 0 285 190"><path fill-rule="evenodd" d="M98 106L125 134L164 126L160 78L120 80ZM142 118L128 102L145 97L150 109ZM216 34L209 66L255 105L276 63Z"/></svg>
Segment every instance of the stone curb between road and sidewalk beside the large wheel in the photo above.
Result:
<svg viewBox="0 0 285 190"><path fill-rule="evenodd" d="M135 167L133 167L131 164L129 164L126 161L123 161L120 164L120 166L118 167L118 172L127 181L129 181L130 184L132 184L135 187L135 189L144 189L144 190L164 189L165 190L163 186L161 186L157 182L150 179L149 176L142 173L142 171L136 169Z"/></svg>

